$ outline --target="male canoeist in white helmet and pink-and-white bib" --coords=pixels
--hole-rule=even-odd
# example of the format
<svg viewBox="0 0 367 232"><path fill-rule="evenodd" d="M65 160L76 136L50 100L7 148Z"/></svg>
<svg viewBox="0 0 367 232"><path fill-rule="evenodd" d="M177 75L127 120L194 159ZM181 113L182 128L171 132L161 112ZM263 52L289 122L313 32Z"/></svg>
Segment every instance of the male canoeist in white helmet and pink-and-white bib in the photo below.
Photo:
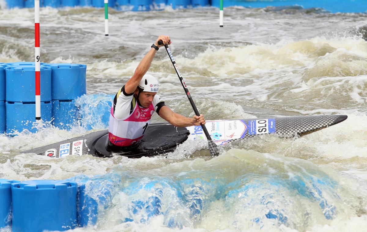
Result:
<svg viewBox="0 0 367 232"><path fill-rule="evenodd" d="M159 45L158 41L163 44ZM145 74L159 47L171 44L169 36L161 35L152 44L152 48L140 61L134 75L117 92L113 99L108 127L109 148L133 148L144 135L150 123L150 118L156 111L157 114L177 127L199 126L205 124L203 115L188 118L174 113L157 95L159 83L152 75ZM131 147L132 146L132 147Z"/></svg>

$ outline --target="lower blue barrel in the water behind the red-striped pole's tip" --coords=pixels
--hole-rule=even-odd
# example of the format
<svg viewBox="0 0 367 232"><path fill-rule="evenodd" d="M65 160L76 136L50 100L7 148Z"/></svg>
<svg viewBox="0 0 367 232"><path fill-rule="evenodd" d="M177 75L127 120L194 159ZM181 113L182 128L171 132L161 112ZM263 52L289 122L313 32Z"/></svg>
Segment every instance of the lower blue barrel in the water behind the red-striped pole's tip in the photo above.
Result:
<svg viewBox="0 0 367 232"><path fill-rule="evenodd" d="M37 129L32 128L36 122L36 104L23 102L5 102L6 106L6 132L8 134L15 131L22 132L28 129L31 133L36 133ZM52 102L41 102L41 119L50 122L52 119Z"/></svg>

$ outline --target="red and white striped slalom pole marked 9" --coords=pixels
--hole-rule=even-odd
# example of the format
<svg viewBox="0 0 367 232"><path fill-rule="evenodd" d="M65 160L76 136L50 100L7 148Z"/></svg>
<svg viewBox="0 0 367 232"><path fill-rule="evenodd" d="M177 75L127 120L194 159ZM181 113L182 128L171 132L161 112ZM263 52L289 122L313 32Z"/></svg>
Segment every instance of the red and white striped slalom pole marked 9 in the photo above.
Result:
<svg viewBox="0 0 367 232"><path fill-rule="evenodd" d="M41 119L41 88L40 88L40 0L34 0L34 65L36 70L36 120Z"/></svg>

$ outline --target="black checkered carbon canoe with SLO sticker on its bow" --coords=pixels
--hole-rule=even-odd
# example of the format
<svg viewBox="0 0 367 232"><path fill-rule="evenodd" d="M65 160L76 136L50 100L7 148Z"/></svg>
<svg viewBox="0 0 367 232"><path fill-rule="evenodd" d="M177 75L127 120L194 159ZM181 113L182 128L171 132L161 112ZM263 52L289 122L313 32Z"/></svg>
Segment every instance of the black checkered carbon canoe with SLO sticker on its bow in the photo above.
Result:
<svg viewBox="0 0 367 232"><path fill-rule="evenodd" d="M347 119L346 115L323 115L323 116L291 116L291 117L274 117L264 119L266 122L274 122L274 128L270 134L276 134L280 137L294 137L295 135L305 135L340 123ZM250 133L250 124L255 120L262 119L244 119L244 120L222 120L207 121L207 125L223 121L241 121L247 126L246 131L241 138L226 139L225 142L218 143L227 144L228 142L238 139L252 138L259 134ZM246 127L245 126L245 127ZM208 128L208 126L207 126ZM210 127L209 127L210 128ZM248 129L248 130L247 130ZM269 125L270 129L270 125ZM106 149L108 142L108 130L96 131L80 137L67 139L54 144L30 149L23 153L36 153L49 157L65 157L68 155L91 154L100 157L111 157L114 155L123 155L127 157L154 156L161 153L174 151L178 144L182 144L187 139L193 138L192 127L177 128L168 123L152 123L146 129L141 142L128 152L109 152Z"/></svg>

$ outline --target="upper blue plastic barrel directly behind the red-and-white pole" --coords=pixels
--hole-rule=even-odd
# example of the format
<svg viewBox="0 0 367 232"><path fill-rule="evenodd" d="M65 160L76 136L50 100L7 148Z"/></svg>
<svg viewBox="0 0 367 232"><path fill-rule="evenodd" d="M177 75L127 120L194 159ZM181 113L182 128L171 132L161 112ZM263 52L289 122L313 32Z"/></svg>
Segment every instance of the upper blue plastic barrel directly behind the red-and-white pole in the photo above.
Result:
<svg viewBox="0 0 367 232"><path fill-rule="evenodd" d="M10 66L6 71L6 101L35 102L36 84L33 65ZM46 66L41 71L41 101L51 101L51 69Z"/></svg>

